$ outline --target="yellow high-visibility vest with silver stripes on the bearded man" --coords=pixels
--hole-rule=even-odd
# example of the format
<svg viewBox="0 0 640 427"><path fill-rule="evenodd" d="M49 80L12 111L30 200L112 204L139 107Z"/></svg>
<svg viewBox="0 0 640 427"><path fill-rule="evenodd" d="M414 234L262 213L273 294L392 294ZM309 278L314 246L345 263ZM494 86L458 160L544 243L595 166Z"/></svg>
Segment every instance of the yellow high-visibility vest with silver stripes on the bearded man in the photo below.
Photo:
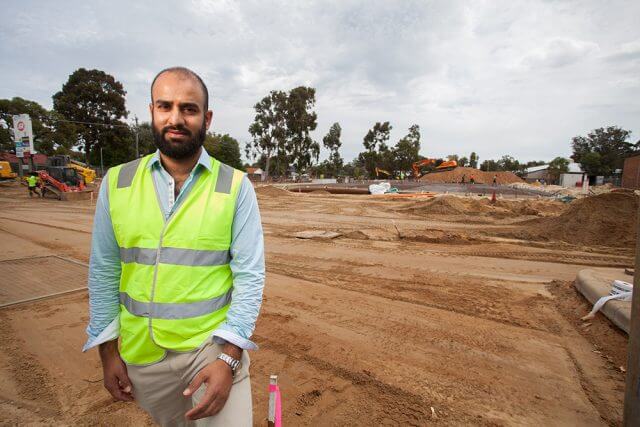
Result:
<svg viewBox="0 0 640 427"><path fill-rule="evenodd" d="M136 365L166 350L192 351L226 318L233 279L231 227L243 172L211 158L182 205L165 220L149 161L108 174L120 247L120 355Z"/></svg>

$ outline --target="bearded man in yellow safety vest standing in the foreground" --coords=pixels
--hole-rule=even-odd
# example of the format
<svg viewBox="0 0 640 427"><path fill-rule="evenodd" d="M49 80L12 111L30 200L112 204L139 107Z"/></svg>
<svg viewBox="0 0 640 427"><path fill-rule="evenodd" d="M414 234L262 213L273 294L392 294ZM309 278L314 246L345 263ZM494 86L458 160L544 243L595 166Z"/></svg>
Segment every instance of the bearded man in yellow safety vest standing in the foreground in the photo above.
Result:
<svg viewBox="0 0 640 427"><path fill-rule="evenodd" d="M107 390L161 425L250 426L246 350L264 285L255 192L202 148L212 112L195 73L161 71L149 110L158 151L100 187L84 350L99 345Z"/></svg>

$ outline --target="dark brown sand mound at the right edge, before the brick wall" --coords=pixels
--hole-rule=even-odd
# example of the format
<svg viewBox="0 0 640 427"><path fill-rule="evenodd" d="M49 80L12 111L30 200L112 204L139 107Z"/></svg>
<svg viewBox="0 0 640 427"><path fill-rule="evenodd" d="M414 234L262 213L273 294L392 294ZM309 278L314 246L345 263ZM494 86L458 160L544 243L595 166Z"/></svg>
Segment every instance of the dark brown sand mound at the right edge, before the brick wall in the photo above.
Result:
<svg viewBox="0 0 640 427"><path fill-rule="evenodd" d="M575 200L561 215L527 222L533 236L579 245L633 247L638 198L627 192Z"/></svg>

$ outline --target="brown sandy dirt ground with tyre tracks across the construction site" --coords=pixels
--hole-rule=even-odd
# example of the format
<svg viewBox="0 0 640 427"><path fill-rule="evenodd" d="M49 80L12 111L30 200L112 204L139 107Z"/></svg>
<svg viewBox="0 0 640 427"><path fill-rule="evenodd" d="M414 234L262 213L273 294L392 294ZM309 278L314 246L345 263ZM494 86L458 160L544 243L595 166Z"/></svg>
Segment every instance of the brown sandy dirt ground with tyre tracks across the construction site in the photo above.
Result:
<svg viewBox="0 0 640 427"><path fill-rule="evenodd" d="M479 201L475 212L257 192L267 282L251 353L256 425L266 425L270 374L285 425L621 423L627 336L601 315L582 324L590 307L572 282L585 266L632 266L632 249L518 238L523 221L566 206ZM91 202L0 186L0 207L0 267L88 262ZM2 277L0 288L19 285ZM151 424L112 401L96 352L80 352L87 321L85 291L0 309L0 424Z"/></svg>

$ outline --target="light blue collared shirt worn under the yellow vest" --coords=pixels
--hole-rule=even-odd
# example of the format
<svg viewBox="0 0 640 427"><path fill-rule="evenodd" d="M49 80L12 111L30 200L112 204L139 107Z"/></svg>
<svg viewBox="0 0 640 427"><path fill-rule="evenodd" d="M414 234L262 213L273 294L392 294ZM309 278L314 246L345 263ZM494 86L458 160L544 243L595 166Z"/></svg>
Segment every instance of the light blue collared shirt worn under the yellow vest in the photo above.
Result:
<svg viewBox="0 0 640 427"><path fill-rule="evenodd" d="M186 199L198 176L211 171L211 158L203 149L177 198L174 197L175 182L162 167L157 151L147 167L151 169L160 208L168 218ZM93 222L89 261L89 339L83 351L116 339L120 334L120 248L113 232L106 183L107 177L100 186ZM255 350L258 347L249 339L262 302L264 238L256 194L246 176L238 193L230 252L231 306L226 320L213 332L212 338L218 343L228 341L245 350Z"/></svg>

